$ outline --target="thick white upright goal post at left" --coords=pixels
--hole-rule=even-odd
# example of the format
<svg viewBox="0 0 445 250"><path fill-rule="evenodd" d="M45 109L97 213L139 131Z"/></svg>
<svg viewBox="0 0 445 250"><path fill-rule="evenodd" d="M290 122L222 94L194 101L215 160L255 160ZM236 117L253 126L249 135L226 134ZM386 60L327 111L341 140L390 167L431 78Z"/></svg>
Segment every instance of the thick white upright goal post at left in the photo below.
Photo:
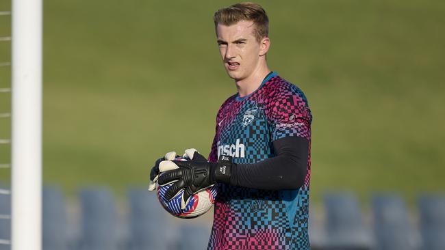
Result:
<svg viewBox="0 0 445 250"><path fill-rule="evenodd" d="M42 249L42 0L12 0L11 247Z"/></svg>

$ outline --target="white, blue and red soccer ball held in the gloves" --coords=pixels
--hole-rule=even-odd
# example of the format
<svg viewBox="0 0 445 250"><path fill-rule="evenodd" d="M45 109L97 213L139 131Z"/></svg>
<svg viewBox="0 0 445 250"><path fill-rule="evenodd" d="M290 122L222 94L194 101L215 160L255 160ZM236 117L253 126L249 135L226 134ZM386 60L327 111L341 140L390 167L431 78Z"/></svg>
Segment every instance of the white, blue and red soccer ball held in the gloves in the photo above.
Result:
<svg viewBox="0 0 445 250"><path fill-rule="evenodd" d="M188 161L189 159L186 157L177 157L175 161ZM186 208L181 209L181 199L184 190L179 191L173 199L168 200L164 197L166 191L170 186L175 184L175 182L166 184L164 186L157 186L157 199L159 199L162 207L170 214L175 217L183 218L183 219L191 219L194 217L199 217L202 214L205 214L210 208L212 208L215 198L216 198L216 190L217 186L209 186L206 189L195 193L188 199L186 203Z"/></svg>

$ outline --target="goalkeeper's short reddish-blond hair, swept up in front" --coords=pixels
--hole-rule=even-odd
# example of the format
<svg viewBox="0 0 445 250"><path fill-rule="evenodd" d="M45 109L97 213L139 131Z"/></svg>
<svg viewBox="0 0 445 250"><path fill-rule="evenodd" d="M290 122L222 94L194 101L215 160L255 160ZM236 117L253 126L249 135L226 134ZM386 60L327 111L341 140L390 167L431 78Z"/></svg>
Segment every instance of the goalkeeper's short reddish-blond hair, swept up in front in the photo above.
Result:
<svg viewBox="0 0 445 250"><path fill-rule="evenodd" d="M257 41L266 38L269 34L269 18L266 11L257 3L236 3L215 12L213 16L215 29L218 23L233 25L240 20L250 20L255 24L254 35Z"/></svg>

